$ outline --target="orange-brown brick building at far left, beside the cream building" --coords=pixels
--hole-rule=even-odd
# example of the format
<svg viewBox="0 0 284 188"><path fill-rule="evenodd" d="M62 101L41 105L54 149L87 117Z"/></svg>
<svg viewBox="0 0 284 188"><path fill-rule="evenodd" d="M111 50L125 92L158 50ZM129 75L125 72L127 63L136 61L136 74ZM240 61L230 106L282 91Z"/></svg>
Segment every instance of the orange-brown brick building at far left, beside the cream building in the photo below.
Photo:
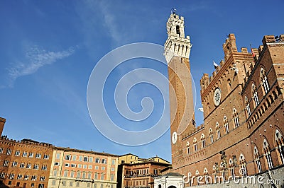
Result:
<svg viewBox="0 0 284 188"><path fill-rule="evenodd" d="M48 187L53 146L1 136L0 187Z"/></svg>

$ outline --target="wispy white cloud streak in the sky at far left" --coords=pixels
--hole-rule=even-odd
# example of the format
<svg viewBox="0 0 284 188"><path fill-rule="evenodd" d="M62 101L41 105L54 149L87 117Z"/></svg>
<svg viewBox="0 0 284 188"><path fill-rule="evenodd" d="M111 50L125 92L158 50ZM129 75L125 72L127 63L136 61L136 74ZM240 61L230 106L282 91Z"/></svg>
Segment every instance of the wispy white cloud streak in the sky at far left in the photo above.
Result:
<svg viewBox="0 0 284 188"><path fill-rule="evenodd" d="M74 47L70 47L69 49L60 52L47 51L45 49L40 49L38 46L30 47L25 54L24 61L18 61L7 68L8 86L12 88L13 83L17 78L34 74L40 67L53 64L55 61L69 57L74 52Z"/></svg>

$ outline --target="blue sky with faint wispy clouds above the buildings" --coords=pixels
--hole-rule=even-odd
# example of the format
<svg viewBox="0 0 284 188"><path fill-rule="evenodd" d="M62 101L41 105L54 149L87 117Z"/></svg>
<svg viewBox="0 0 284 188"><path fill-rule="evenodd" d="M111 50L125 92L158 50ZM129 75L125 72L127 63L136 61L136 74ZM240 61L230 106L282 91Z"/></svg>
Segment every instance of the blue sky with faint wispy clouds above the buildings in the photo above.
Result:
<svg viewBox="0 0 284 188"><path fill-rule="evenodd" d="M284 1L1 1L0 2L0 117L7 119L4 135L29 138L55 146L159 155L170 160L170 133L143 146L122 146L106 139L92 124L87 110L87 83L97 61L116 47L132 42L163 45L171 8L185 17L190 35L190 64L200 105L200 78L212 74L212 60L223 59L222 44L234 33L238 49L261 45L263 35L284 33ZM125 71L151 67L153 61L127 61L109 77L107 108L121 127L129 124L114 112L111 91ZM141 110L141 98L156 102L153 117L136 129L157 121L163 107L160 93L144 84L131 88L129 106ZM109 88L108 88L109 87ZM165 104L168 107L168 104ZM197 124L202 113L196 112Z"/></svg>

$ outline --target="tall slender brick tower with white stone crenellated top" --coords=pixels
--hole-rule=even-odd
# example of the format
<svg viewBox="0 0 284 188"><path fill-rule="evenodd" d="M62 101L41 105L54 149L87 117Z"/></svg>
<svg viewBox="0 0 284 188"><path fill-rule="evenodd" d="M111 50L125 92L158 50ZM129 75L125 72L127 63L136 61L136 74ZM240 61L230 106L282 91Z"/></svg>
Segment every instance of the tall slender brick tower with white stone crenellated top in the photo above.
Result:
<svg viewBox="0 0 284 188"><path fill-rule="evenodd" d="M182 157L182 136L195 129L192 77L190 74L190 37L185 37L184 18L171 13L167 22L168 39L165 42L165 59L168 62L170 81L170 134L172 162ZM173 167L175 169L175 167Z"/></svg>

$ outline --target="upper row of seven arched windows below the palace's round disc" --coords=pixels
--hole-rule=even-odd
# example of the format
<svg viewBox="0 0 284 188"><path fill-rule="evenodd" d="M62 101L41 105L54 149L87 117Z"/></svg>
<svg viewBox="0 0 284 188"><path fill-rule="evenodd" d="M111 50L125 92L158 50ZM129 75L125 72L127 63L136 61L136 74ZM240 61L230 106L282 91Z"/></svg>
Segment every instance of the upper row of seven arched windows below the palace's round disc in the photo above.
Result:
<svg viewBox="0 0 284 188"><path fill-rule="evenodd" d="M235 128L239 127L239 125L240 125L239 115L238 115L238 112L236 111L235 108L233 110L233 121L234 121L234 127ZM228 134L229 133L229 122L228 122L228 119L226 118L226 116L224 116L223 124L224 124L224 132L225 132L225 134ZM217 139L221 138L221 132L220 132L220 127L219 127L218 122L216 123L216 136L217 136ZM200 139L201 139L201 148L204 148L206 146L204 134L201 135ZM209 129L209 139L210 139L210 143L214 142L213 131L212 131L211 128ZM193 149L194 149L194 151L198 150L196 138L193 139ZM190 142L188 142L188 141L187 141L187 154L190 154Z"/></svg>

